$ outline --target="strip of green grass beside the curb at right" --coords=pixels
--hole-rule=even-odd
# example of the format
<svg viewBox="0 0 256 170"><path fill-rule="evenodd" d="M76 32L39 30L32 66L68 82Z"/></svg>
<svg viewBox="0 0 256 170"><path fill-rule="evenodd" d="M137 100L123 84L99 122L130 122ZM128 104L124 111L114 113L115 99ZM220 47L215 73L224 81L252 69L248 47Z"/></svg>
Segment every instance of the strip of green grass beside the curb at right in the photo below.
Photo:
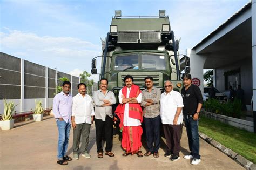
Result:
<svg viewBox="0 0 256 170"><path fill-rule="evenodd" d="M256 164L256 134L201 117L199 131Z"/></svg>

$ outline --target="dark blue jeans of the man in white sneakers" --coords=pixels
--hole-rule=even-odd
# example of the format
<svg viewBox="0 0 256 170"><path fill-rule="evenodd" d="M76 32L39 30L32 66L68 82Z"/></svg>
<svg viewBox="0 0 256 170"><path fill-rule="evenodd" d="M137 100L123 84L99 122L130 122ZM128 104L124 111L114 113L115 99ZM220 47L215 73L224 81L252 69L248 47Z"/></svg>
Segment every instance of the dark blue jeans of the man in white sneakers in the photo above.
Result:
<svg viewBox="0 0 256 170"><path fill-rule="evenodd" d="M187 129L188 145L191 152L190 154L193 155L194 158L200 159L198 134L199 120L193 120L192 115L184 114L184 122Z"/></svg>

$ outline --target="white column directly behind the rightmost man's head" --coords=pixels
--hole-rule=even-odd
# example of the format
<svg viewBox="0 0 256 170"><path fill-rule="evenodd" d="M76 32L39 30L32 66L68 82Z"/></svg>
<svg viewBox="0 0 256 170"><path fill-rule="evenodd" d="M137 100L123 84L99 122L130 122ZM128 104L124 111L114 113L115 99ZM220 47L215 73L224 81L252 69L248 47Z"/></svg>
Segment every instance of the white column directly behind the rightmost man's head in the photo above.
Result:
<svg viewBox="0 0 256 170"><path fill-rule="evenodd" d="M204 92L204 64L207 56L197 55L195 50L190 52L190 74L192 79L198 78L200 80L200 90Z"/></svg>

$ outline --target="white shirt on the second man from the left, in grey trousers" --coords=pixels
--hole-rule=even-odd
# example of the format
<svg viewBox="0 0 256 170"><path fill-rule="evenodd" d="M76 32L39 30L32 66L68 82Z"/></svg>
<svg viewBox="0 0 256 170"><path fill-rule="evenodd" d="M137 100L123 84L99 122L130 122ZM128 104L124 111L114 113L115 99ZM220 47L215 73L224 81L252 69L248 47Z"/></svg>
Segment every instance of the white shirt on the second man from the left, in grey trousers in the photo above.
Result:
<svg viewBox="0 0 256 170"><path fill-rule="evenodd" d="M92 116L95 115L92 98L85 94L83 97L80 93L73 97L72 116L75 116L76 124L91 124Z"/></svg>

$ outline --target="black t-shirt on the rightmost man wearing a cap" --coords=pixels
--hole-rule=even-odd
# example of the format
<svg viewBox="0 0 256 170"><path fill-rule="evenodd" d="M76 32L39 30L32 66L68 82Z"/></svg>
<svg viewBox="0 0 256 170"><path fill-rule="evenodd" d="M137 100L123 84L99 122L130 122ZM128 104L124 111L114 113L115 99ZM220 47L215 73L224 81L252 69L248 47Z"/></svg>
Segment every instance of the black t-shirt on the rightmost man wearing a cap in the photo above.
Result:
<svg viewBox="0 0 256 170"><path fill-rule="evenodd" d="M185 87L181 90L181 96L183 98L183 114L194 114L197 112L198 103L203 104L202 93L198 86L191 84L187 90Z"/></svg>

